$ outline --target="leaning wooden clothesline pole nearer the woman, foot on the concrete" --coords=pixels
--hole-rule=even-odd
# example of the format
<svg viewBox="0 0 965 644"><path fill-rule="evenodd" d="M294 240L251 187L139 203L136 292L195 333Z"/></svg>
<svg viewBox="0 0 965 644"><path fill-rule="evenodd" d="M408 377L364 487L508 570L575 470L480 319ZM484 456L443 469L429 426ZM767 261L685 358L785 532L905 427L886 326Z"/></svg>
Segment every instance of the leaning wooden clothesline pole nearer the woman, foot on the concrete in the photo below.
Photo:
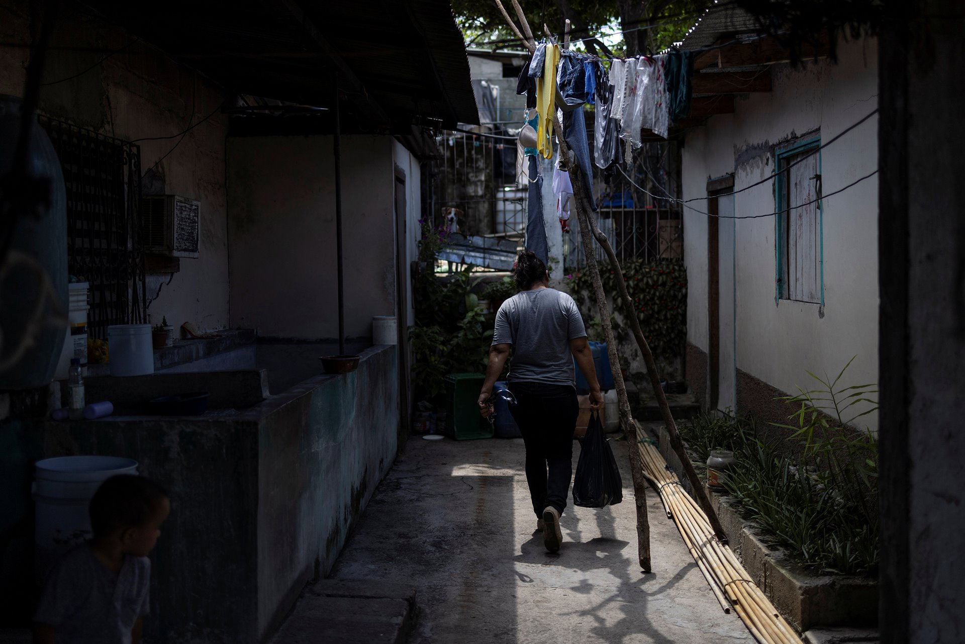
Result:
<svg viewBox="0 0 965 644"><path fill-rule="evenodd" d="M499 7L503 16L506 18L507 22L510 23L510 28L517 34L521 34L520 29L513 24L510 19L510 15L503 8L500 0L495 0L496 5ZM514 9L516 9L519 20L522 24L522 31L527 34L532 34L529 24L527 23L526 17L522 14L522 11L515 7L516 2L513 2ZM545 27L545 25L544 25ZM547 30L548 31L548 30ZM536 42L531 38L523 39L526 46L531 52L536 51ZM567 162L574 163L573 154L569 150L569 146L566 145L564 137L563 125L554 118L552 120L553 129L556 131L556 138L560 144L560 154L563 154ZM576 199L574 200L574 206L576 210L576 218L580 225L580 231L582 233L581 238L583 239L583 247L587 256L587 270L590 271L591 279L593 280L593 292L596 298L596 307L599 311L600 321L603 326L603 338L607 342L607 349L610 354L610 368L613 371L614 384L617 387L617 400L620 407L620 428L623 431L623 435L627 440L627 445L629 447L629 458L630 458L630 475L633 479L633 495L636 505L636 515L637 515L637 555L640 563L640 568L646 572L650 572L650 524L647 516L647 479L644 476L643 462L640 458L639 450L634 449L637 445L637 425L633 420L633 415L630 411L629 399L626 396L626 385L623 382L623 375L620 372L620 356L617 354L617 342L614 338L613 327L610 324L610 311L607 305L606 294L603 293L603 282L600 280L599 268L596 266L596 259L593 254L593 242L590 238L590 192L588 186L583 182L583 177L581 173L575 172L571 174L570 182L573 184L573 193ZM574 181L575 180L575 181Z"/></svg>

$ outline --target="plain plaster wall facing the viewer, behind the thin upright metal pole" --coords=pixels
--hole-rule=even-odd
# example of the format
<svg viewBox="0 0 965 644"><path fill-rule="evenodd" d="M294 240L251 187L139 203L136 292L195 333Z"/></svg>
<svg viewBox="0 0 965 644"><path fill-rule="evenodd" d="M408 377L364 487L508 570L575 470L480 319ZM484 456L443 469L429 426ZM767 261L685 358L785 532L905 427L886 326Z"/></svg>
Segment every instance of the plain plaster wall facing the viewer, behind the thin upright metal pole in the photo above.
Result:
<svg viewBox="0 0 965 644"><path fill-rule="evenodd" d="M342 137L345 334L396 313L393 139ZM331 136L228 139L231 324L339 335Z"/></svg>

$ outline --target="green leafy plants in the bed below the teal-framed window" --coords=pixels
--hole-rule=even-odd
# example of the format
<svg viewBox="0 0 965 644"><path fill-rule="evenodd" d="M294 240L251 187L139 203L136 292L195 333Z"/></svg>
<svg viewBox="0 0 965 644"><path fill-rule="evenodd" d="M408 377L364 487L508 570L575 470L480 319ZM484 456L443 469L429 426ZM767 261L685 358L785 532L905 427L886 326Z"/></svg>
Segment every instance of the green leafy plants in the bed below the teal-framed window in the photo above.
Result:
<svg viewBox="0 0 965 644"><path fill-rule="evenodd" d="M753 418L729 412L702 414L681 424L680 434L698 471L710 450L734 453L737 466L724 485L765 541L822 572L875 574L877 443L849 423L877 408L876 386L840 385L850 364L836 378L809 374L819 386L780 399L794 408L795 424L774 424L792 431L787 438L761 437ZM784 441L800 441L803 452L787 454Z"/></svg>

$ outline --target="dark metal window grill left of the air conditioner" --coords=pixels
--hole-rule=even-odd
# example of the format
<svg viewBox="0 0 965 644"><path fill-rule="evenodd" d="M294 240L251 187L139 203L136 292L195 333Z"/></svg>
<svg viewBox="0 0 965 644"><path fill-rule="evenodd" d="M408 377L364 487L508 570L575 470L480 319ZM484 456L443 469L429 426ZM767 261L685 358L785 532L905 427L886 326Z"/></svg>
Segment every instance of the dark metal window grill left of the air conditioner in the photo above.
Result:
<svg viewBox="0 0 965 644"><path fill-rule="evenodd" d="M88 333L147 321L141 149L91 129L41 116L67 188L68 269L91 285Z"/></svg>

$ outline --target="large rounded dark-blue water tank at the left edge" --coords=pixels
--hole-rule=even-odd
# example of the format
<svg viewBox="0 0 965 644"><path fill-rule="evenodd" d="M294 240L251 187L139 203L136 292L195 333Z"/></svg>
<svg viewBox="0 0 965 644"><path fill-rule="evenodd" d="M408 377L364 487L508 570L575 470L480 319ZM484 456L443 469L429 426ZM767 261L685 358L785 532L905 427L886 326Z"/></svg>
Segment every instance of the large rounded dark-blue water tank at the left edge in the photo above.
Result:
<svg viewBox="0 0 965 644"><path fill-rule="evenodd" d="M0 176L14 163L14 148L19 136L20 99L0 95ZM18 212L11 242L12 266L0 282L0 363L32 335L32 342L20 358L0 372L0 389L29 389L48 384L54 377L57 360L67 330L67 195L64 175L53 144L36 123L27 156L27 174L49 181L49 199L37 212ZM39 273L42 269L43 276ZM49 280L48 288L43 288ZM38 301L41 323L33 321ZM58 310L59 309L59 310ZM64 316L62 324L48 322L55 313Z"/></svg>

